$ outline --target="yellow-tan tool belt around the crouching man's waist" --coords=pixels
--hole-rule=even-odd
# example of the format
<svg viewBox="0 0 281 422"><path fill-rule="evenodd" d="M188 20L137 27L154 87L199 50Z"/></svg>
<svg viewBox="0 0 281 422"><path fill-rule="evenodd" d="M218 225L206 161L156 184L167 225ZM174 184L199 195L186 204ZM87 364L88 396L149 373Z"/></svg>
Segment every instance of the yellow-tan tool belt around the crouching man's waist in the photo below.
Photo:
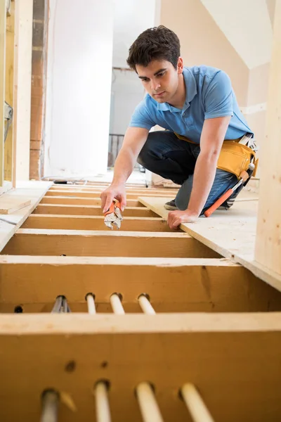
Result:
<svg viewBox="0 0 281 422"><path fill-rule="evenodd" d="M179 135L176 132L174 134L183 141L195 143L185 136ZM256 153L251 148L242 143L239 143L240 139L231 139L223 141L221 147L221 153L218 156L217 169L225 170L235 174L237 179L240 178L240 174L243 171L249 169L250 163L254 164L254 171L251 176L255 177L256 170L258 168L259 159L256 159ZM198 145L195 143L195 145Z"/></svg>

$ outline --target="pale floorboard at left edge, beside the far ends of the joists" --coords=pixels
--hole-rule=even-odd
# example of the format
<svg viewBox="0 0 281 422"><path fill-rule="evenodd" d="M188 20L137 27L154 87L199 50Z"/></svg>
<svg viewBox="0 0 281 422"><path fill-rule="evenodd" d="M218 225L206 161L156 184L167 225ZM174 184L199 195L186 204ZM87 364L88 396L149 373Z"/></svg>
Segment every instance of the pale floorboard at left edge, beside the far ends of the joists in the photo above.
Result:
<svg viewBox="0 0 281 422"><path fill-rule="evenodd" d="M18 227L27 219L49 187L50 182L48 181L30 181L25 184L18 183L15 191L4 193L1 197L3 199L15 199L17 196L20 198L25 197L27 200L31 200L31 204L14 212L12 215L0 215L0 250L4 248Z"/></svg>

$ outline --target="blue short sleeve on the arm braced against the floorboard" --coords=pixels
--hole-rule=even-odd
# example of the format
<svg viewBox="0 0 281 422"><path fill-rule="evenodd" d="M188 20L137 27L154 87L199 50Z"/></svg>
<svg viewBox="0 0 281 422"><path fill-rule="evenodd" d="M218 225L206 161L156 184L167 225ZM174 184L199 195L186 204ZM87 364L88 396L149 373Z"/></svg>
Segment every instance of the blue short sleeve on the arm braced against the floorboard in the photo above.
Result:
<svg viewBox="0 0 281 422"><path fill-rule="evenodd" d="M233 116L233 88L230 77L220 70L216 73L204 97L205 119Z"/></svg>

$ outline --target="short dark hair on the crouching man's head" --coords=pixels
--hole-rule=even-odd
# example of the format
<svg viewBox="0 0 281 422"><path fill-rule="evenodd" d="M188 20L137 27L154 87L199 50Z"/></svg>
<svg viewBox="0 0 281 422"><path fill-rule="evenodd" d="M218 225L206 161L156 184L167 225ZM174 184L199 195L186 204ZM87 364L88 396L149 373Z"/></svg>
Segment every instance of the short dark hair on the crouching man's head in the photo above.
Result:
<svg viewBox="0 0 281 422"><path fill-rule="evenodd" d="M138 36L129 48L127 63L136 70L136 65L146 68L152 60L167 60L177 68L181 56L178 36L163 25L149 28Z"/></svg>

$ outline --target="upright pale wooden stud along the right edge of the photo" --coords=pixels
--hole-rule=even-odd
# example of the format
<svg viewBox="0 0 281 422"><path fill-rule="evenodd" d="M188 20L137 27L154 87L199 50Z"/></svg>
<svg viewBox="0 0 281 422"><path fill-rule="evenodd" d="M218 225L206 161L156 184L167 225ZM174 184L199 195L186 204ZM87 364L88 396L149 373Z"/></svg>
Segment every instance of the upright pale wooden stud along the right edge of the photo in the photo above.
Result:
<svg viewBox="0 0 281 422"><path fill-rule="evenodd" d="M281 1L276 1L255 260L281 276Z"/></svg>

